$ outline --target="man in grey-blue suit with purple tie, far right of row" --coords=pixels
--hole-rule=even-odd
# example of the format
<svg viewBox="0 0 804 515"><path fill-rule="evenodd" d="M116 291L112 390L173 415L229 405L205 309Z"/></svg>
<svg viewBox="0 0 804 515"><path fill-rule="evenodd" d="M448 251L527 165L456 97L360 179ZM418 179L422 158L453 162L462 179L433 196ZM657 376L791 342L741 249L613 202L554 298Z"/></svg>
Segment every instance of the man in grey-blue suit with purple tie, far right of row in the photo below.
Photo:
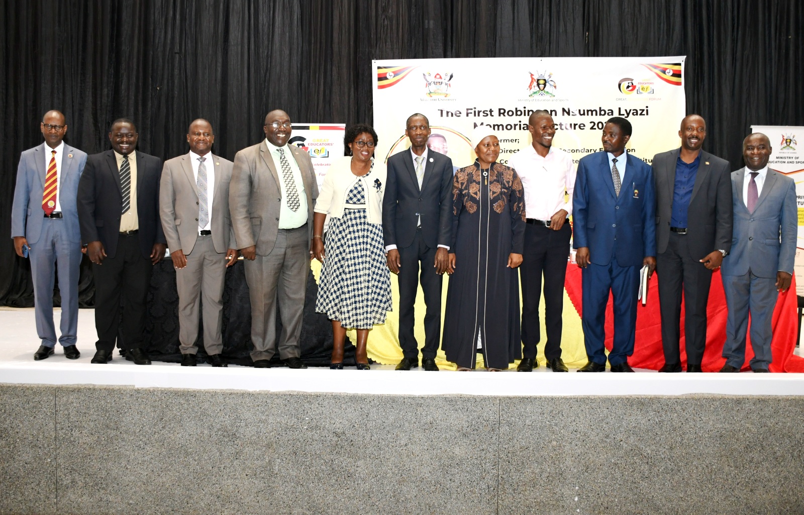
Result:
<svg viewBox="0 0 804 515"><path fill-rule="evenodd" d="M732 172L734 231L732 251L721 273L728 305L721 372L739 372L745 363L745 333L751 315L751 369L768 372L771 319L778 297L793 277L798 237L796 185L768 168L770 141L753 133L743 141L745 168Z"/></svg>

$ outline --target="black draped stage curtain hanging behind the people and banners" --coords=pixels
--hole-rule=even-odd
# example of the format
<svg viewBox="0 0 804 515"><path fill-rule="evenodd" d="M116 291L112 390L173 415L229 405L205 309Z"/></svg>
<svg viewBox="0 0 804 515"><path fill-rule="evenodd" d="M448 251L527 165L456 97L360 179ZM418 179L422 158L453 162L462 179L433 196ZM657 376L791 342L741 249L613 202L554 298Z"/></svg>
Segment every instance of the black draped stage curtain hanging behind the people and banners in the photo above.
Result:
<svg viewBox="0 0 804 515"><path fill-rule="evenodd" d="M707 119L705 148L735 169L749 125L804 125L798 0L6 0L0 27L8 236L18 156L42 141L48 109L88 153L108 149L110 122L129 117L139 149L162 158L186 152L187 126L204 117L215 153L232 159L260 141L272 108L299 122L371 122L371 59L687 55L687 112ZM33 305L10 240L0 304ZM93 305L86 263L80 304Z"/></svg>

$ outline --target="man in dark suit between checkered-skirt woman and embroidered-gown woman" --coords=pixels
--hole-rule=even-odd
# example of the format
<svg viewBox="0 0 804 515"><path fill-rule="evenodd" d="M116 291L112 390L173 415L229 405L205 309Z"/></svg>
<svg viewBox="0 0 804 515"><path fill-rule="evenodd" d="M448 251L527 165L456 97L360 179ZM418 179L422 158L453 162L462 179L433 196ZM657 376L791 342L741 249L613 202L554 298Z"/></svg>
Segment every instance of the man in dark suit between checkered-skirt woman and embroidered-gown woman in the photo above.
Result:
<svg viewBox="0 0 804 515"><path fill-rule="evenodd" d="M416 292L425 293L425 347L421 366L436 371L441 338L441 278L447 269L452 231L452 160L427 148L430 123L416 112L408 117L405 135L410 149L388 159L383 198L383 232L388 268L398 275L400 347L396 370L419 366L419 345L413 335ZM421 277L419 278L419 264Z"/></svg>

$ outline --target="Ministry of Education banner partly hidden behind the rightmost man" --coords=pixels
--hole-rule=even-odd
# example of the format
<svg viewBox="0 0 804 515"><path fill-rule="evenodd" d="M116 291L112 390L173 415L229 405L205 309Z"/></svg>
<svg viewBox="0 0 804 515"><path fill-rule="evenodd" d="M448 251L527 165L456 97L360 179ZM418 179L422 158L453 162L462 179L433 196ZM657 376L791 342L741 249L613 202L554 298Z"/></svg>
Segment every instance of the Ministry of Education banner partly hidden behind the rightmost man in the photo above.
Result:
<svg viewBox="0 0 804 515"><path fill-rule="evenodd" d="M770 140L773 152L768 166L790 175L796 182L798 198L798 242L796 243L796 289L804 296L804 127L752 125L752 133L763 133ZM802 140L799 145L798 139Z"/></svg>

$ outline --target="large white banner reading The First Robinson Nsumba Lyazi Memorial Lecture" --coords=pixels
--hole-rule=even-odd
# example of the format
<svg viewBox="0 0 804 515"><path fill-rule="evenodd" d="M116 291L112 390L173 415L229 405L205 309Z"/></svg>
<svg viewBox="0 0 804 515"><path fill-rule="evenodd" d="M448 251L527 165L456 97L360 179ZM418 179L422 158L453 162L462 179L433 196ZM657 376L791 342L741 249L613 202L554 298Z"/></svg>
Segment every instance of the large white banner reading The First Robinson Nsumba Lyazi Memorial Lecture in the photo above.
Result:
<svg viewBox="0 0 804 515"><path fill-rule="evenodd" d="M375 155L388 159L408 148L405 121L428 117L430 148L453 165L474 161L472 130L498 131L499 161L531 144L527 118L547 109L556 121L553 145L580 157L601 150L601 130L611 116L627 118L630 153L650 162L677 148L685 115L685 56L506 59L388 59L373 61Z"/></svg>

